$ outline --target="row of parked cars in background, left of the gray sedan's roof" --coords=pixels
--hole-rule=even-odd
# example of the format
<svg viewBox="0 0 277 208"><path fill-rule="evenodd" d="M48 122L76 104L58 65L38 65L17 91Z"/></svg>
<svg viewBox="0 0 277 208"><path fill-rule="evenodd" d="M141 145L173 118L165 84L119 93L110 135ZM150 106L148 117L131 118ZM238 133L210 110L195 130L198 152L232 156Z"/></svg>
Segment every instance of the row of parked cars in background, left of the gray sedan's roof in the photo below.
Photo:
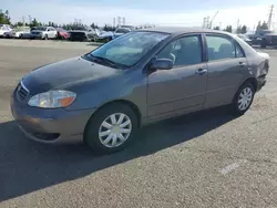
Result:
<svg viewBox="0 0 277 208"><path fill-rule="evenodd" d="M101 41L109 42L122 34L132 31L132 27L121 27L115 32L106 32L85 25L73 27L70 31L53 27L19 27L12 29L9 25L0 24L0 37L16 39L59 39L70 41Z"/></svg>

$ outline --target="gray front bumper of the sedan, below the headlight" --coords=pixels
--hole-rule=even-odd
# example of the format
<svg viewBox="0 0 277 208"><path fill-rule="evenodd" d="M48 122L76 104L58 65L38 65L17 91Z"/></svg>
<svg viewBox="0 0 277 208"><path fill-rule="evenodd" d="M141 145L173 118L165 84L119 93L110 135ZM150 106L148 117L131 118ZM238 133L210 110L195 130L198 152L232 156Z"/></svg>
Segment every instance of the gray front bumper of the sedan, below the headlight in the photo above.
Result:
<svg viewBox="0 0 277 208"><path fill-rule="evenodd" d="M11 112L27 137L48 144L80 143L94 110L66 111L30 107L13 94Z"/></svg>

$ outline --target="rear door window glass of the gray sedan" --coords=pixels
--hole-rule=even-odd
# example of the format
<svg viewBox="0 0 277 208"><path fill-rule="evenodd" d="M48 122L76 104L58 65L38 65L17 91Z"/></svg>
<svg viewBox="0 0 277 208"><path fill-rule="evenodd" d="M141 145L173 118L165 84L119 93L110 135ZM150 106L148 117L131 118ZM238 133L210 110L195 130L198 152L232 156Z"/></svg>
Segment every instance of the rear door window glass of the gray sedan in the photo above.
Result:
<svg viewBox="0 0 277 208"><path fill-rule="evenodd" d="M235 44L225 37L206 35L208 61L236 58Z"/></svg>

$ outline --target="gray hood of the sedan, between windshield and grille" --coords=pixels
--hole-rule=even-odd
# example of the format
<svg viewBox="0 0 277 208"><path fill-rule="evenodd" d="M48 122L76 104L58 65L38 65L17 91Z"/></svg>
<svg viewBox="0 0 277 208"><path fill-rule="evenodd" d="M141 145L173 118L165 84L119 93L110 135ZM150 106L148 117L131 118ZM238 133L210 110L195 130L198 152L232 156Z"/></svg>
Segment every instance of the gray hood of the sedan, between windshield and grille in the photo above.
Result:
<svg viewBox="0 0 277 208"><path fill-rule="evenodd" d="M78 56L35 69L27 74L22 82L31 94L38 94L74 83L109 77L116 73L119 70Z"/></svg>

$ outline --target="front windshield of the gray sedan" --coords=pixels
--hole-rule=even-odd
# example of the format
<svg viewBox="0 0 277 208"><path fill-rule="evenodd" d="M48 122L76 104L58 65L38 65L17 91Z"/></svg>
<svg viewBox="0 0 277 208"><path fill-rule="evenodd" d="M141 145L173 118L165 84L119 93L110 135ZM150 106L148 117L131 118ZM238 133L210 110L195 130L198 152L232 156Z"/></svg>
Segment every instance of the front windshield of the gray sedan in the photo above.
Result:
<svg viewBox="0 0 277 208"><path fill-rule="evenodd" d="M130 67L167 37L167 33L160 32L130 32L98 48L86 56L104 59L117 67Z"/></svg>

